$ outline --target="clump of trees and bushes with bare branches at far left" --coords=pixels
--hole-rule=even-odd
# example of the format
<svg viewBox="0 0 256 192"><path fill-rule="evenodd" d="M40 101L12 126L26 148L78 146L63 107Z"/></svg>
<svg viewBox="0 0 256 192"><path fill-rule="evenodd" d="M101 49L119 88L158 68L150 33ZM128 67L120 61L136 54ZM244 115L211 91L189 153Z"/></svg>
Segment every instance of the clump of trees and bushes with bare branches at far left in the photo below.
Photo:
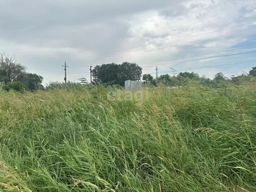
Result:
<svg viewBox="0 0 256 192"><path fill-rule="evenodd" d="M0 52L0 82L3 89L9 91L34 91L44 88L42 86L43 77L35 73L28 73L27 68L17 62L14 55L8 56L5 52Z"/></svg>

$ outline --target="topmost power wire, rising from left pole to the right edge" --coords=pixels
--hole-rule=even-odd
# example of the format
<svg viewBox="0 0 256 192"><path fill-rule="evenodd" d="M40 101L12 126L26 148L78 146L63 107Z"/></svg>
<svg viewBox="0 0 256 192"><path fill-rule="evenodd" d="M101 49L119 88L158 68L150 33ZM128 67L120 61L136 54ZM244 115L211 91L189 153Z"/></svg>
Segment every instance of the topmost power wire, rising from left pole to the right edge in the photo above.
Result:
<svg viewBox="0 0 256 192"><path fill-rule="evenodd" d="M91 56L91 57L85 57L85 58L74 59L74 60L69 60L69 61L76 61L76 60L81 60L81 59L88 59L88 58L92 58L92 57L98 57L98 56L102 56L102 55L108 55L108 54L112 54L112 53L116 53L116 52L120 52L120 51L129 50L129 49L134 49L134 48L137 48L137 47L142 47L142 46L146 46L146 45L151 45L151 44L158 43L158 42L162 42L162 41L166 41L166 40L169 40L169 39L174 39L174 38L177 38L177 37L183 37L183 36L186 36L186 35L191 35L191 34L199 33L199 32L202 32L202 31L209 30L209 29L214 29L214 28L223 27L223 26L226 26L226 25L231 25L231 24L234 24L234 23L239 23L239 22L246 21L246 20L250 20L250 19L254 19L254 18L256 18L256 17L252 17L252 18L248 18L248 19L239 20L239 21L237 21L237 22L228 23L228 24L225 24L225 25L217 26L217 27L211 27L211 28L208 28L208 29L204 29L204 30L200 30L200 31L195 31L195 32L193 32L193 33L184 34L184 35L180 35L180 36L176 36L176 37L171 37L171 38L168 38L168 39L163 39L163 40L160 40L160 41L155 41L155 42L148 43L148 44L144 44L144 45L139 45L139 46L136 46L136 47L131 47L131 48L127 48L127 49L123 49L123 50L119 50L119 51L113 51L113 52L109 52L109 53L105 53L105 54L101 54L101 55L95 55L95 56ZM69 62L69 61L67 61L67 62Z"/></svg>

